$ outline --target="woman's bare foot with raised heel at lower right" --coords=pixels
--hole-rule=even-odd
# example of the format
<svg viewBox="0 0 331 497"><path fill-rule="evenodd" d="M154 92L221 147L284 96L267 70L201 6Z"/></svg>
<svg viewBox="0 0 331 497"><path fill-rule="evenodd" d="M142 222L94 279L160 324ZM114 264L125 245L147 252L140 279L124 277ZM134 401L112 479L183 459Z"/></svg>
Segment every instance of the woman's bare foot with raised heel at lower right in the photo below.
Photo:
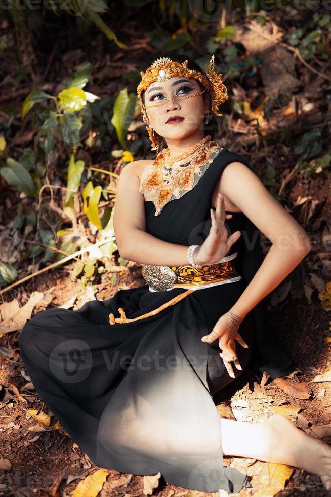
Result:
<svg viewBox="0 0 331 497"><path fill-rule="evenodd" d="M331 447L307 435L281 414L274 414L266 423L273 425L278 433L279 462L318 475L326 490L331 490Z"/></svg>

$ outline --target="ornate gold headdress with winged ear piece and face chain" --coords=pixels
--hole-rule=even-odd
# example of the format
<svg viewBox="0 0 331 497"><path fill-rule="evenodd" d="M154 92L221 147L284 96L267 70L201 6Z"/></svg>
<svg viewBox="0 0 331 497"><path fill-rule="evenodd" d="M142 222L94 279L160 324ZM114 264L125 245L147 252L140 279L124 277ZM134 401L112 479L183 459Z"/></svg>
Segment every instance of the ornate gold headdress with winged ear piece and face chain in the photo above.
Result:
<svg viewBox="0 0 331 497"><path fill-rule="evenodd" d="M141 97L142 92L146 90L149 87L149 85L154 81L162 82L170 78L173 78L174 76L184 77L184 78L194 78L204 85L204 89L201 92L195 93L194 95L179 97L178 99L183 100L185 98L190 98L192 96L200 95L205 91L209 91L211 95L211 106L213 114L215 114L216 116L222 116L222 114L218 112L218 107L223 102L228 100L229 96L227 88L223 85L221 80L222 73L217 75L215 72L214 59L215 55L212 56L206 68L206 75L204 75L200 71L189 69L187 60L180 63L173 61L169 57L157 58L152 63L152 65L148 67L146 72L141 71L140 72L141 82L137 87L137 93L138 93L141 111L143 113L143 121L146 124L148 123L145 110L150 107L163 105L164 100L161 103L148 105L148 107L145 107ZM157 150L159 152L159 140L155 138L154 130L152 130L152 128L150 128L149 126L146 126L146 128L148 130L149 138L153 145L152 150Z"/></svg>

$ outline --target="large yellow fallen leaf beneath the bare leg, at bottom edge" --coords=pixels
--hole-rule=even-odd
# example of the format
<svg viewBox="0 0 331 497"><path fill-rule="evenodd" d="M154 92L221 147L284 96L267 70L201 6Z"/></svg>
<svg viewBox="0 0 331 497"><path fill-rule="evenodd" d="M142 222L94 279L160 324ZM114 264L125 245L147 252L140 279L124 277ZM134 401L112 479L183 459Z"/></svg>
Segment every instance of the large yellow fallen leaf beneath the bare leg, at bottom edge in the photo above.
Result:
<svg viewBox="0 0 331 497"><path fill-rule="evenodd" d="M284 489L286 480L291 477L294 468L286 464L266 463L259 474L258 488L254 491L255 497L273 497Z"/></svg>

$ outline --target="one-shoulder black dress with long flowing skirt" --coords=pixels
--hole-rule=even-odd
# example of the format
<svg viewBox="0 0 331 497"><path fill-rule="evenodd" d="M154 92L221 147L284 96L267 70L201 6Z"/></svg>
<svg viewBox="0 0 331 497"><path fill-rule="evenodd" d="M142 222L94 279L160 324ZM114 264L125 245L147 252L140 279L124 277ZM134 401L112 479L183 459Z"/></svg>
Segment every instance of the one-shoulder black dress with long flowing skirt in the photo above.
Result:
<svg viewBox="0 0 331 497"><path fill-rule="evenodd" d="M211 225L210 207L224 167L240 155L222 149L192 190L166 204L159 216L146 202L147 232L171 243L201 244ZM221 420L212 395L233 381L219 357L218 340L201 341L237 301L263 261L260 232L242 213L226 220L242 235L229 254L241 280L195 290L155 315L109 323L109 314L141 316L183 288L151 292L146 284L119 290L73 311L52 308L24 326L20 352L40 398L94 464L136 475L160 472L173 485L239 492L247 475L223 466ZM236 342L243 369L260 377L288 374L294 365L282 350L261 301L243 319ZM253 356L252 356L253 354ZM232 363L233 364L233 363ZM241 374L233 366L235 377Z"/></svg>

